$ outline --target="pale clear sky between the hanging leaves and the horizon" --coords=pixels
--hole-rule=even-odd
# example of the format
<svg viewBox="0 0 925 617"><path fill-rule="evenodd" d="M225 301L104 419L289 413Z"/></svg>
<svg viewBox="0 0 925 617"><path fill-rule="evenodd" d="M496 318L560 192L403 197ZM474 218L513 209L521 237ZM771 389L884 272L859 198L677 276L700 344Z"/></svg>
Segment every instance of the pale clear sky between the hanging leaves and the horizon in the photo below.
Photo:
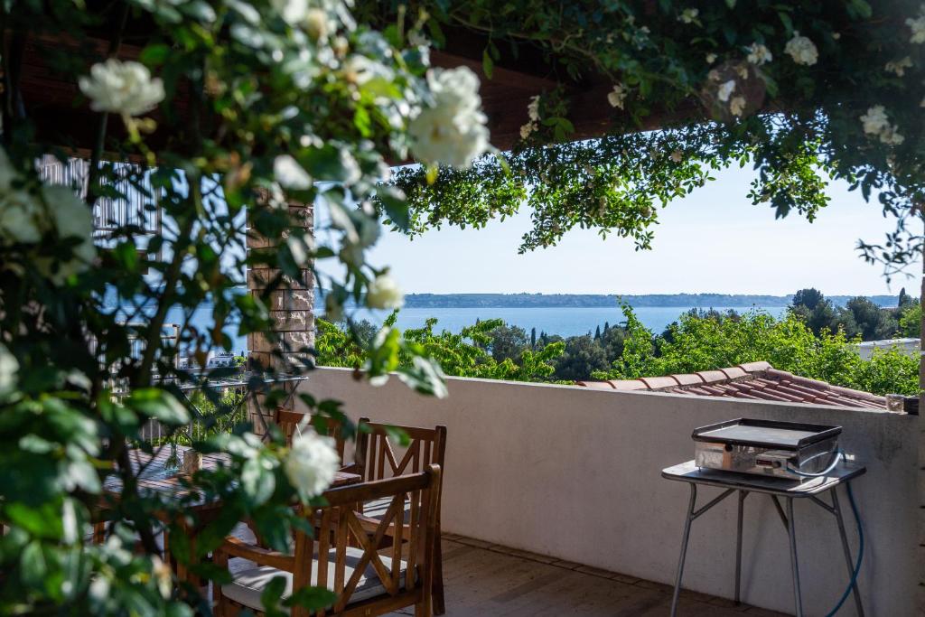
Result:
<svg viewBox="0 0 925 617"><path fill-rule="evenodd" d="M827 295L896 294L916 289L902 275L887 283L882 266L857 253L857 240L882 241L894 227L879 204L846 184L816 221L774 218L746 197L750 169L725 171L660 211L652 250L632 240L574 229L554 247L518 254L530 228L527 208L483 229L445 227L409 240L384 232L370 263L389 265L405 293L762 293L815 287ZM912 266L913 274L920 266Z"/></svg>

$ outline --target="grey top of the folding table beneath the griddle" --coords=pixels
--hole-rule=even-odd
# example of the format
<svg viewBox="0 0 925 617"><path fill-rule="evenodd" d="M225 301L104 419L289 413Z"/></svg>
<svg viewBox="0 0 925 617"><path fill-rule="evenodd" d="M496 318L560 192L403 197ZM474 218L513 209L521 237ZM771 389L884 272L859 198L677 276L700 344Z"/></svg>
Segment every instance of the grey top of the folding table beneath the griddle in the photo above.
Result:
<svg viewBox="0 0 925 617"><path fill-rule="evenodd" d="M755 493L782 497L809 497L863 475L867 467L857 463L839 463L832 473L806 480L788 480L769 475L737 474L706 467L697 467L694 461L681 463L661 470L661 477L709 487L736 488Z"/></svg>

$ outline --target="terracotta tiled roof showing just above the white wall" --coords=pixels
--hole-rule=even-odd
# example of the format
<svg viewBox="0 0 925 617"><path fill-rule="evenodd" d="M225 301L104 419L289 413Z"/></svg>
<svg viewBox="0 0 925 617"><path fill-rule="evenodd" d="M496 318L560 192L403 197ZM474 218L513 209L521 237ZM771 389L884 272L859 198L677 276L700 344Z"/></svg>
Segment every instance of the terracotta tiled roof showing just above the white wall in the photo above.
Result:
<svg viewBox="0 0 925 617"><path fill-rule="evenodd" d="M579 386L606 390L673 392L689 396L716 396L759 401L811 402L839 407L886 409L886 399L861 390L833 386L779 371L767 362L739 364L716 371L687 375L578 381Z"/></svg>

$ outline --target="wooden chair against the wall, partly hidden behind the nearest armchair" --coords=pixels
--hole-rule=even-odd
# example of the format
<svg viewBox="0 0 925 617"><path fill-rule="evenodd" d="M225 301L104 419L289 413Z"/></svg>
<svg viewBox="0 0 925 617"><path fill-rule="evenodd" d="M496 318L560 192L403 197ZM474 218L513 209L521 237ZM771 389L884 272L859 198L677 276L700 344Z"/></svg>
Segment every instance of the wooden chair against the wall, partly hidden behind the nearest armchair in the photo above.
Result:
<svg viewBox="0 0 925 617"><path fill-rule="evenodd" d="M444 458L447 451L447 427L435 426L422 428L420 426L399 426L384 423L370 422L369 418L360 418L356 438L356 473L363 476L364 481L381 480L404 474L414 474L427 465L436 464L443 469ZM410 442L403 451L401 444L393 438L395 430L403 431ZM446 612L446 603L443 597L443 550L440 547L440 500L437 510L437 543L434 554L434 614L442 615ZM366 500L363 504L364 519L370 519L371 524L381 520L387 512L388 502L385 500ZM411 512L411 504L405 504L405 520ZM382 538L380 546L389 546L393 541L401 543L401 538L387 534Z"/></svg>

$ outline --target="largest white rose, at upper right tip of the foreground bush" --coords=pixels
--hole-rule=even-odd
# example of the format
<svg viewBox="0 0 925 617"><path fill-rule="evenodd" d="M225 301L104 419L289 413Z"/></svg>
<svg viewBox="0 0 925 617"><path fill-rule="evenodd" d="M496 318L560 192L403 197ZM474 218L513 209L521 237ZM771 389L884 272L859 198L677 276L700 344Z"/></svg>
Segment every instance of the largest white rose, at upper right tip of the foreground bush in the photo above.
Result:
<svg viewBox="0 0 925 617"><path fill-rule="evenodd" d="M414 156L426 165L465 168L488 147L487 117L482 113L478 77L471 68L427 71L433 104L408 125Z"/></svg>

